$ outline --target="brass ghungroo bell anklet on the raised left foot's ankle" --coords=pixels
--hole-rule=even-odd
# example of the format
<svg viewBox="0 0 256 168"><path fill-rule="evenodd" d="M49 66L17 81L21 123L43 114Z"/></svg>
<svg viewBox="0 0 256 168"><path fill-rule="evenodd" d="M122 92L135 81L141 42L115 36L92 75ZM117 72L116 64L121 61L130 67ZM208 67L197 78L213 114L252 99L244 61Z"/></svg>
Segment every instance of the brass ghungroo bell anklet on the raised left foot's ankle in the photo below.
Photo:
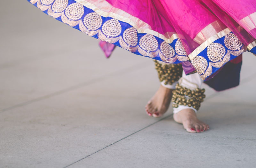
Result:
<svg viewBox="0 0 256 168"><path fill-rule="evenodd" d="M181 64L161 64L157 60L154 60L154 62L160 82L164 81L164 84L173 84L182 76Z"/></svg>

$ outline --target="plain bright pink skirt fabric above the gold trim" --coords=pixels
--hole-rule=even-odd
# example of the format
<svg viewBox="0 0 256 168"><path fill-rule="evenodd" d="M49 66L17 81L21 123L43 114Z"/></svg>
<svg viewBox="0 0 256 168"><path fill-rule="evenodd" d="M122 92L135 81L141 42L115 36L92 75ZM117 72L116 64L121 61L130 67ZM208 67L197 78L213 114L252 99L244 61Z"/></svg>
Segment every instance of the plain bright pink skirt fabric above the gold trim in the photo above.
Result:
<svg viewBox="0 0 256 168"><path fill-rule="evenodd" d="M249 44L256 38L256 29L239 32L238 23L245 16L256 12L255 0L106 0L132 16L148 23L152 30L161 34L173 32L186 39L189 51L200 44L195 36L213 21L223 23L221 29L230 28L240 40ZM255 20L256 21L256 20ZM245 28L246 30L246 28Z"/></svg>

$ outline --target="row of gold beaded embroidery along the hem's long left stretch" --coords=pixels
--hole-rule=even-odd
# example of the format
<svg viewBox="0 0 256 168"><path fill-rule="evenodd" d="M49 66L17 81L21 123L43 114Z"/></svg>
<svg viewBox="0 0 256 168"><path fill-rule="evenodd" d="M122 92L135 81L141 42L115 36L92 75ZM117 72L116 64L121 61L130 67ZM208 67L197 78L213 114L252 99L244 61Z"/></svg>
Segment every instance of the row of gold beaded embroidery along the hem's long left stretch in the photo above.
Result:
<svg viewBox="0 0 256 168"><path fill-rule="evenodd" d="M48 1L44 1L47 3ZM50 1L49 1L50 2ZM160 56L160 58L164 62L173 63L177 59L180 61L187 61L188 57L180 56L180 55L174 55L172 56L172 47L171 49L168 47L167 44L163 43L162 45L162 52L166 55L164 56L163 53L158 50L158 41L156 40L155 36L151 34L146 34L142 36L140 39L139 45L138 44L138 32L135 28L128 28L127 31L123 33L123 36L119 36L122 32L121 24L119 23L119 20L111 19L106 21L102 25L102 19L101 16L90 14L86 15L85 18L82 20L82 16L84 13L84 9L81 8L81 6L77 3L70 4L68 6L68 0L55 0L52 5L42 5L40 0L31 0L30 3L35 4L37 3L37 7L41 9L42 11L48 10L47 14L52 16L53 18L61 17L61 21L63 23L68 24L69 26L76 26L79 24L79 29L88 34L89 36L97 35L98 38L102 41L107 41L108 43L116 43L119 41L119 44L122 48L129 50L130 52L136 52L138 51L143 56L148 56L150 58L155 58L157 55ZM64 14L64 10L65 14ZM77 11L76 11L77 10ZM92 12L94 13L94 12ZM67 16L66 16L67 15ZM102 29L100 30L100 26L102 25ZM170 39L167 39L167 41L178 38L178 36L172 35ZM123 38L124 39L123 39ZM125 42L126 40L126 42ZM128 44L128 45L127 45ZM184 48L181 43L176 43L176 48ZM133 47L134 46L134 47ZM141 48L140 48L141 47ZM166 48L167 47L167 48ZM169 49L168 49L169 48ZM146 51L145 51L146 50ZM168 52L169 50L169 52ZM171 57L171 58L170 58Z"/></svg>

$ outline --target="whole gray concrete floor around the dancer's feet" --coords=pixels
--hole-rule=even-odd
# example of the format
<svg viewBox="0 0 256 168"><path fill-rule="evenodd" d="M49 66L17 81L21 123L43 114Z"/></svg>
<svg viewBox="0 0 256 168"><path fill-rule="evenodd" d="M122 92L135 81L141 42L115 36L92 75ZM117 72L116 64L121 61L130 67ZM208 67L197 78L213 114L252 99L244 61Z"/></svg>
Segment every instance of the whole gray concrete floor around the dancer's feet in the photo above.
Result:
<svg viewBox="0 0 256 168"><path fill-rule="evenodd" d="M240 86L206 85L191 134L148 117L159 87L151 59L98 41L24 1L0 2L0 167L255 167L256 58Z"/></svg>

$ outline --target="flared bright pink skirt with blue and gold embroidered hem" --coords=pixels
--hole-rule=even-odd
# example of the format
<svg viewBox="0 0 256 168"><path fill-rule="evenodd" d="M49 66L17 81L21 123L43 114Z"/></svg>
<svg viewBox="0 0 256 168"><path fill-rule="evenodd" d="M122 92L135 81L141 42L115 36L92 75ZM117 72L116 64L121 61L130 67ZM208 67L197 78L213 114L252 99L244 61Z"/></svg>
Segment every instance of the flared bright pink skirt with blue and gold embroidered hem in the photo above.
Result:
<svg viewBox="0 0 256 168"><path fill-rule="evenodd" d="M245 51L256 54L255 0L28 0L44 13L115 46L209 80ZM228 66L226 66L228 67ZM224 69L224 68L223 68ZM226 68L227 69L227 68Z"/></svg>

